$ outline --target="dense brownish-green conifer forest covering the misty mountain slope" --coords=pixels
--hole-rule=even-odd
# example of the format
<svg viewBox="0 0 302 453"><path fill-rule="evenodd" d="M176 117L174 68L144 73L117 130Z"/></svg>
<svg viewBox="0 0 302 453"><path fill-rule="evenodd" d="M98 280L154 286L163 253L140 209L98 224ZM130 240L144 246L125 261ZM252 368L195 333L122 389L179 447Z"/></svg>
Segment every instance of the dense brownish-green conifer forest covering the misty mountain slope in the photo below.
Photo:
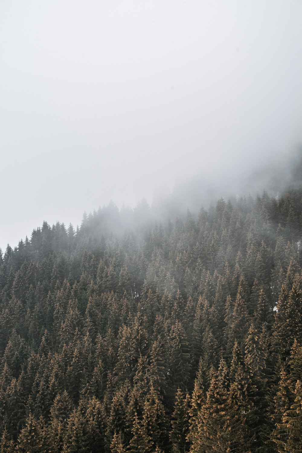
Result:
<svg viewBox="0 0 302 453"><path fill-rule="evenodd" d="M0 452L301 452L301 238L295 188L7 246Z"/></svg>

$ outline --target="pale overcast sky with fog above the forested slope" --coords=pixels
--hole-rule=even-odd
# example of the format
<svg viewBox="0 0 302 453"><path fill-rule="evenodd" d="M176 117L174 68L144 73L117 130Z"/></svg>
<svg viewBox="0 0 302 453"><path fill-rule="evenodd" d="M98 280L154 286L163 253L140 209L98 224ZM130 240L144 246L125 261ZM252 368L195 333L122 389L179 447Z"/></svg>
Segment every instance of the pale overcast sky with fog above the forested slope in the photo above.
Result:
<svg viewBox="0 0 302 453"><path fill-rule="evenodd" d="M1 0L0 246L301 145L301 24L301 0Z"/></svg>

